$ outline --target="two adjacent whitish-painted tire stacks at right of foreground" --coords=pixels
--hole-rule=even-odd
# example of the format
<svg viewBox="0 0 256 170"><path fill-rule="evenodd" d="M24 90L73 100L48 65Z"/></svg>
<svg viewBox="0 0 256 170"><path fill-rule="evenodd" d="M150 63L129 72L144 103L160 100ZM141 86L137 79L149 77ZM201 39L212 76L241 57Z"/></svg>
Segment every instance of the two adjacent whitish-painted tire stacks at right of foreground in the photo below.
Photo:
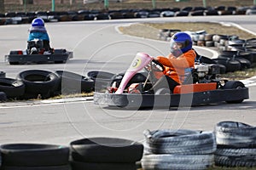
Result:
<svg viewBox="0 0 256 170"><path fill-rule="evenodd" d="M218 122L213 132L187 129L145 131L142 167L207 169L256 166L256 127L242 122Z"/></svg>

